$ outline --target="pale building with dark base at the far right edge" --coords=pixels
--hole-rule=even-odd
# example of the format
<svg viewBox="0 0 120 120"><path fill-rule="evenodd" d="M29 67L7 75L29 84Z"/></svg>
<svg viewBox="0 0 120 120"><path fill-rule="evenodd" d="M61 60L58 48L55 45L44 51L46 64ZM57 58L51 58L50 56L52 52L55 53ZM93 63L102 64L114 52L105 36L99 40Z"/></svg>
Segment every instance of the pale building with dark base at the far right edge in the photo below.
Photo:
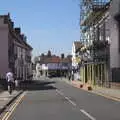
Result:
<svg viewBox="0 0 120 120"><path fill-rule="evenodd" d="M110 6L110 71L111 81L120 82L120 0Z"/></svg>

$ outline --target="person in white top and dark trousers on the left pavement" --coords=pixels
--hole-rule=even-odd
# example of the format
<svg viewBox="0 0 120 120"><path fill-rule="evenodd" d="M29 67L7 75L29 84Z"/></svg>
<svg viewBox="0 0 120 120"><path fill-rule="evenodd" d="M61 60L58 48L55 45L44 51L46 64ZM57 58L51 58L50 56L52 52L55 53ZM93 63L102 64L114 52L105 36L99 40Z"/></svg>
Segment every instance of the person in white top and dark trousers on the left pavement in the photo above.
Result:
<svg viewBox="0 0 120 120"><path fill-rule="evenodd" d="M9 94L12 94L14 78L13 78L13 73L11 70L9 70L9 72L6 73L6 80L8 84L8 92Z"/></svg>

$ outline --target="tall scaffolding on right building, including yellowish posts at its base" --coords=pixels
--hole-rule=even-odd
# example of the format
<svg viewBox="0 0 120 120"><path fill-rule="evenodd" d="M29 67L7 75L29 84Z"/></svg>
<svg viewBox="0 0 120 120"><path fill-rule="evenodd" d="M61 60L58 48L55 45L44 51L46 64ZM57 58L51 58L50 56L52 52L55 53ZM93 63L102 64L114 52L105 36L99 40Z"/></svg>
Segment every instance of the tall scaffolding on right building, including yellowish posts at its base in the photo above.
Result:
<svg viewBox="0 0 120 120"><path fill-rule="evenodd" d="M103 85L103 83L109 79L108 72L106 71L106 69L108 69L106 58L109 58L109 55L106 56L105 54L106 58L104 59L102 56L97 55L98 53L94 50L95 45L98 46L98 43L100 49L101 46L106 47L105 33L102 33L104 40L101 42L100 32L98 29L96 30L96 25L99 24L102 16L109 9L110 2L111 0L81 0L80 2L80 40L86 46L86 49L90 51L92 58L96 55L96 58L99 59L99 61L97 61L97 59L94 60L93 58L91 62L86 61L84 63L81 73L83 73L83 81L85 82L90 81ZM104 26L103 28L105 29ZM106 48L104 50L108 49L109 48ZM101 52L101 50L99 50L99 52ZM107 52L109 53L109 50Z"/></svg>

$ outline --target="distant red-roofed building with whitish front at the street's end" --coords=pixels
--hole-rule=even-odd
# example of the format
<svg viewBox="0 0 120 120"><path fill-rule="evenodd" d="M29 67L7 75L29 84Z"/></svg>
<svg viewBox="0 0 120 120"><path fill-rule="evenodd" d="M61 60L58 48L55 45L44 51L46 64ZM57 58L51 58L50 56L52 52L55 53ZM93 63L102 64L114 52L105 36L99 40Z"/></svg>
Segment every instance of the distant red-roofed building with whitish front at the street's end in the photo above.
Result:
<svg viewBox="0 0 120 120"><path fill-rule="evenodd" d="M41 55L36 64L37 75L48 76L50 73L55 73L56 76L65 76L68 71L71 71L72 61L71 56L61 58L56 55Z"/></svg>

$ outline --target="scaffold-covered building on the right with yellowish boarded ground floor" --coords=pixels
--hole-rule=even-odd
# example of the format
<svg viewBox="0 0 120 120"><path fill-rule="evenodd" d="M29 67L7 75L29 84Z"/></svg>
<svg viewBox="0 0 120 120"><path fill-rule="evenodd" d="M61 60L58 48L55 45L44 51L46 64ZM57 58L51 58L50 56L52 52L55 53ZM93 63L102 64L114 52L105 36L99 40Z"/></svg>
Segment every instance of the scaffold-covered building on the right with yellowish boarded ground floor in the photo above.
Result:
<svg viewBox="0 0 120 120"><path fill-rule="evenodd" d="M110 0L82 0L81 41L85 49L81 73L84 83L109 86L110 79ZM89 56L89 57L88 57Z"/></svg>

